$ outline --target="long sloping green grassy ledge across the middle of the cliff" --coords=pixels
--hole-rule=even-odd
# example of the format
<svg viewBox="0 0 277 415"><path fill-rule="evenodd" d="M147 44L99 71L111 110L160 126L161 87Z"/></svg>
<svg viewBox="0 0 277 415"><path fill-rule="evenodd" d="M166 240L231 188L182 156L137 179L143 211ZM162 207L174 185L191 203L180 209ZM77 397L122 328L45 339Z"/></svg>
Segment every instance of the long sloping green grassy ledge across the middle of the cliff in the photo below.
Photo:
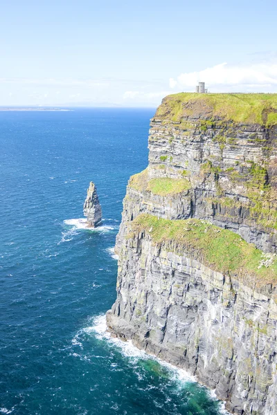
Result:
<svg viewBox="0 0 277 415"><path fill-rule="evenodd" d="M180 249L187 250L220 273L254 277L258 284L277 284L276 256L264 254L230 230L199 219L170 221L150 214L139 215L131 226L133 232L148 232L156 243L177 241L177 253Z"/></svg>

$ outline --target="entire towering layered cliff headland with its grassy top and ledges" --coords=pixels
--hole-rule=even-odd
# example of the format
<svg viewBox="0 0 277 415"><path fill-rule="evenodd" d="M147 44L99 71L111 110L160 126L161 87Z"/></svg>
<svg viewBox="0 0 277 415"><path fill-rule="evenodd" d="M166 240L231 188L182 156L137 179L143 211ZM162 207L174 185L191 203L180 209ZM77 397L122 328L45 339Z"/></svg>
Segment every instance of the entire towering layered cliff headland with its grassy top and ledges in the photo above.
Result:
<svg viewBox="0 0 277 415"><path fill-rule="evenodd" d="M277 414L277 95L180 93L151 120L109 331L235 414Z"/></svg>

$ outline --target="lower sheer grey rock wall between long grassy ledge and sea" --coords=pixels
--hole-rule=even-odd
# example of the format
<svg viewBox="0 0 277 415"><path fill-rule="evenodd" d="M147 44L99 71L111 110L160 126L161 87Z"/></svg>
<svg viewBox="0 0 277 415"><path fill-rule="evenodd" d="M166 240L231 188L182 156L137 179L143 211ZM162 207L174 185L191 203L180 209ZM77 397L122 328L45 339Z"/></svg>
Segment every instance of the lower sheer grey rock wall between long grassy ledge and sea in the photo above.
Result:
<svg viewBox="0 0 277 415"><path fill-rule="evenodd" d="M217 272L150 230L123 242L109 331L197 376L230 412L276 415L276 287Z"/></svg>

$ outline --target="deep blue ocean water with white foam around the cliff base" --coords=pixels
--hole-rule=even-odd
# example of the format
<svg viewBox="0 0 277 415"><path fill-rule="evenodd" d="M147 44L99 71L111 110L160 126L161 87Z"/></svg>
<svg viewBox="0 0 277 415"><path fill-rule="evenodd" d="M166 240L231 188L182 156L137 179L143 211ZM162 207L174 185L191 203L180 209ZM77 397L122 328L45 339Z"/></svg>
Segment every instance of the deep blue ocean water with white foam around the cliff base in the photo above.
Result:
<svg viewBox="0 0 277 415"><path fill-rule="evenodd" d="M0 414L216 415L185 372L105 333L125 186L151 109L0 111ZM105 218L82 228L89 181Z"/></svg>

